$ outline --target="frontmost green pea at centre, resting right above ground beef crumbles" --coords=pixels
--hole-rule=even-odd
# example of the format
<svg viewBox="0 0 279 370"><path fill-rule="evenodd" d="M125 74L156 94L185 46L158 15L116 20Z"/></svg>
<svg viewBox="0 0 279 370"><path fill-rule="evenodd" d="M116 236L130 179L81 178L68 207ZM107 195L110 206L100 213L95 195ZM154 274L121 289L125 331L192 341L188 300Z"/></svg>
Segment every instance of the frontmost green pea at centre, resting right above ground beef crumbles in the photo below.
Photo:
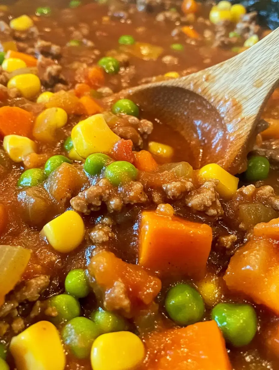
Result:
<svg viewBox="0 0 279 370"><path fill-rule="evenodd" d="M119 186L125 182L135 180L137 169L132 163L126 161L116 161L109 164L104 170L106 177L113 186Z"/></svg>

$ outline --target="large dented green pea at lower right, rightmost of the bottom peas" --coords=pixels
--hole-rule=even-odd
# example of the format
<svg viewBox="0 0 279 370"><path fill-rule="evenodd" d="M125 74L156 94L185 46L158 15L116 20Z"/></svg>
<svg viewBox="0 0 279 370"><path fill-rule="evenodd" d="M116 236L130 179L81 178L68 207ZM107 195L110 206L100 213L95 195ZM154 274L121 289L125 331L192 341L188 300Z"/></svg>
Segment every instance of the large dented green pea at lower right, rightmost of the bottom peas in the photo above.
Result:
<svg viewBox="0 0 279 370"><path fill-rule="evenodd" d="M212 312L227 342L235 347L249 344L257 331L257 315L255 309L246 303L218 303Z"/></svg>

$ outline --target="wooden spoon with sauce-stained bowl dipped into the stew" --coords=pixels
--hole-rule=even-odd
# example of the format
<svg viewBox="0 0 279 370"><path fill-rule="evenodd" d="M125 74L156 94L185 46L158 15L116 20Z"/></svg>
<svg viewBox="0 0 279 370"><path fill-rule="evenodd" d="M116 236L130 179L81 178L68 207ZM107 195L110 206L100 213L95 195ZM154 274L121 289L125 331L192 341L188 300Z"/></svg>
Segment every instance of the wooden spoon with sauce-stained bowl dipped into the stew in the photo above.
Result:
<svg viewBox="0 0 279 370"><path fill-rule="evenodd" d="M185 160L194 168L217 163L236 174L245 170L260 114L278 80L279 28L225 62L133 87L112 99L129 97L149 116L179 131L187 142Z"/></svg>

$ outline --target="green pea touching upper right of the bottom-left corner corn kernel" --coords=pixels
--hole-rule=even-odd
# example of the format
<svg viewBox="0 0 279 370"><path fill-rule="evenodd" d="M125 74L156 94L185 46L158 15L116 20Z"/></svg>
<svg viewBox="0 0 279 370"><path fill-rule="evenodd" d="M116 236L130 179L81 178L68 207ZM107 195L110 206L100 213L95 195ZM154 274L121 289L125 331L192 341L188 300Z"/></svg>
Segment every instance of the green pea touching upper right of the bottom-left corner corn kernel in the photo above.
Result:
<svg viewBox="0 0 279 370"><path fill-rule="evenodd" d="M79 302L73 296L68 294L59 294L49 299L49 306L54 307L57 311L57 316L52 317L54 324L60 324L72 320L80 315Z"/></svg>

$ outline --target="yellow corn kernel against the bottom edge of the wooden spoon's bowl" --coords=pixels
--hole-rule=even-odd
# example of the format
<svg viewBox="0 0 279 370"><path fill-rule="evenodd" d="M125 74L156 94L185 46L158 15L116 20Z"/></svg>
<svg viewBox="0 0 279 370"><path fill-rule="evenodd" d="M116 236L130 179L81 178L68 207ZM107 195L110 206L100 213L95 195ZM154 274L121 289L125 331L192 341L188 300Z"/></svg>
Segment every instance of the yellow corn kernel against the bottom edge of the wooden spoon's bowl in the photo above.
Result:
<svg viewBox="0 0 279 370"><path fill-rule="evenodd" d="M239 179L215 163L207 164L199 169L197 171L197 178L199 181L210 179L219 180L216 190L223 198L229 198L238 189Z"/></svg>

